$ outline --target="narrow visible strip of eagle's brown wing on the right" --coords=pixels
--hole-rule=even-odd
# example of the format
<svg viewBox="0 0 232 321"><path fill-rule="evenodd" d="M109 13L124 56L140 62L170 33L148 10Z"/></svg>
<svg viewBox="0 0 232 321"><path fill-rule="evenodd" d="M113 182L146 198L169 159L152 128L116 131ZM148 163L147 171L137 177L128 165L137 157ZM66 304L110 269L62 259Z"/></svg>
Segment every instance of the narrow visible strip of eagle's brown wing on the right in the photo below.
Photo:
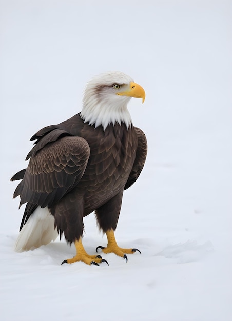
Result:
<svg viewBox="0 0 232 321"><path fill-rule="evenodd" d="M129 188L131 185L136 182L137 178L139 177L143 166L145 164L145 160L147 157L147 139L144 134L144 132L137 127L134 127L134 130L136 131L136 134L138 136L138 147L136 151L136 159L134 159L134 164L132 167L132 170L130 172L129 178L126 182L126 185L124 187L124 190Z"/></svg>

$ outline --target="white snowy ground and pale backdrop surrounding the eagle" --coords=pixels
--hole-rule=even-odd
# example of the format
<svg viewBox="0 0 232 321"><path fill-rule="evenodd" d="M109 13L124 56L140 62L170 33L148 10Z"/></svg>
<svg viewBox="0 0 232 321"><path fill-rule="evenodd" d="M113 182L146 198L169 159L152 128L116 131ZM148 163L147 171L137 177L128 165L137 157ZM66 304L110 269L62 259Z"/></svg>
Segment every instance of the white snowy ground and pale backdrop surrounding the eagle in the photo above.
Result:
<svg viewBox="0 0 232 321"><path fill-rule="evenodd" d="M1 319L231 320L231 2L0 2ZM147 135L144 170L125 191L115 236L128 262L63 265L62 239L15 253L24 207L12 200L30 137L81 109L85 83L120 70ZM40 111L37 114L37 111ZM94 215L83 244L106 237Z"/></svg>

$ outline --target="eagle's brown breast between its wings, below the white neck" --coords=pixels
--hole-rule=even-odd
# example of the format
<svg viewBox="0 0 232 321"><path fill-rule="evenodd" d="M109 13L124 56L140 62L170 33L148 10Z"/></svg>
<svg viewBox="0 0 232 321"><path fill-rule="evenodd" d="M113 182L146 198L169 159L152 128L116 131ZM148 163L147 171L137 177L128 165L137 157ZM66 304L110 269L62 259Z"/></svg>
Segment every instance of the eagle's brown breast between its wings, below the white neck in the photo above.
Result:
<svg viewBox="0 0 232 321"><path fill-rule="evenodd" d="M77 190L84 193L87 212L118 194L131 172L138 138L133 126L110 124L94 128L85 124L83 138L89 144L90 157Z"/></svg>

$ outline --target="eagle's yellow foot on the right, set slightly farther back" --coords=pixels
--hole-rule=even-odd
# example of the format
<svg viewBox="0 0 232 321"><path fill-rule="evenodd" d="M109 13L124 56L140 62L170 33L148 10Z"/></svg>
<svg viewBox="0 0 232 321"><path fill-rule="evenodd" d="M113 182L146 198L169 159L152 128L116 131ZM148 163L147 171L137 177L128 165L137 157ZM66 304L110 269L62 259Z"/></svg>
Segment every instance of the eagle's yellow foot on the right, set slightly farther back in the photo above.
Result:
<svg viewBox="0 0 232 321"><path fill-rule="evenodd" d="M123 249L123 248L120 248L115 240L115 236L114 236L114 232L113 230L108 230L106 232L106 236L107 236L107 239L108 239L108 244L107 244L107 247L103 247L103 246L98 246L96 248L96 252L98 252L98 249L101 249L103 251L103 253L107 254L107 253L114 253L118 256L121 256L123 258L126 259L126 262L127 262L127 256L126 254L133 254L134 252L138 251L140 254L140 250L138 249Z"/></svg>

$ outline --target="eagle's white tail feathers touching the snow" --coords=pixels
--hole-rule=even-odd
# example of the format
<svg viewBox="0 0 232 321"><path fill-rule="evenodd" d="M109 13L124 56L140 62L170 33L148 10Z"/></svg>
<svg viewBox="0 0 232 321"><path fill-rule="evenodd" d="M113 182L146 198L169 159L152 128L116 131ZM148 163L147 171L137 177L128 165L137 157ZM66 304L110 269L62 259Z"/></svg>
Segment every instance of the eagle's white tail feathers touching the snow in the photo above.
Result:
<svg viewBox="0 0 232 321"><path fill-rule="evenodd" d="M33 250L55 240L58 236L54 228L54 217L47 207L38 206L30 215L18 235L14 250L16 252Z"/></svg>

